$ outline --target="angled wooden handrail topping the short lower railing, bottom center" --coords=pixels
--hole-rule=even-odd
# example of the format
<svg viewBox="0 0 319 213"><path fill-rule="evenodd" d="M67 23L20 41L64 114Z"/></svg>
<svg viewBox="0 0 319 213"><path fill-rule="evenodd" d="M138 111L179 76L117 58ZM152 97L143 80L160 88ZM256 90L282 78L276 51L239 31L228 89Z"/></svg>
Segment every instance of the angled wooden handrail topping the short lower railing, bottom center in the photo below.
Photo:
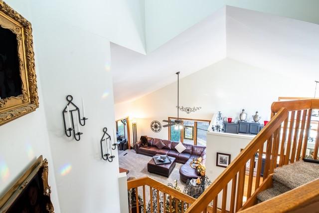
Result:
<svg viewBox="0 0 319 213"><path fill-rule="evenodd" d="M128 190L141 187L144 185L148 185L154 189L160 190L160 192L166 193L167 195L170 195L174 198L177 198L178 200L184 201L188 204L192 204L195 202L196 199L179 192L178 190L175 190L169 186L166 186L165 184L160 183L159 181L150 178L150 177L143 177L143 178L137 178L128 181Z"/></svg>

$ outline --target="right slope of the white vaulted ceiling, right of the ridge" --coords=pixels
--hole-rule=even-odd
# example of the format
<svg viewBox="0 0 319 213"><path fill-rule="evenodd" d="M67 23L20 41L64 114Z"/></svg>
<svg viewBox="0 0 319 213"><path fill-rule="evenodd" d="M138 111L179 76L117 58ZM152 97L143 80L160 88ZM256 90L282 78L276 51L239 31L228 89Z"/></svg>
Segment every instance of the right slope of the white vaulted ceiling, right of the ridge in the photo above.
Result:
<svg viewBox="0 0 319 213"><path fill-rule="evenodd" d="M232 6L226 10L227 57L287 78L303 73L319 79L319 24Z"/></svg>

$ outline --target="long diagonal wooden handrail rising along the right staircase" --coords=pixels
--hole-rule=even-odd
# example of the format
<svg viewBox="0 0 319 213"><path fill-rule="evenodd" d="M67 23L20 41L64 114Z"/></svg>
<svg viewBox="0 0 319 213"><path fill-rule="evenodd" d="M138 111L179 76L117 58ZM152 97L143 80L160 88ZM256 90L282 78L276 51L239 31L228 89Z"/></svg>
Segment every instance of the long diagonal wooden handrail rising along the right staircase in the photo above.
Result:
<svg viewBox="0 0 319 213"><path fill-rule="evenodd" d="M246 146L246 148L230 163L230 165L217 177L217 179L207 188L207 190L191 205L186 213L201 213L210 201L224 189L237 174L238 170L251 158L258 148L281 126L287 119L288 110L282 108L270 120L257 136Z"/></svg>

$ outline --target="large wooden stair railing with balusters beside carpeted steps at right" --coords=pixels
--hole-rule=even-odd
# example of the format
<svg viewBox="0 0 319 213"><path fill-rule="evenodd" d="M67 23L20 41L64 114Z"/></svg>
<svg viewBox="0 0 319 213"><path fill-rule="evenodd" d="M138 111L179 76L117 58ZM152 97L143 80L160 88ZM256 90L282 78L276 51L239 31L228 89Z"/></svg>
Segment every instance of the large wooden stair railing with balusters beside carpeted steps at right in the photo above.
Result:
<svg viewBox="0 0 319 213"><path fill-rule="evenodd" d="M217 211L234 213L257 204L257 194L272 186L271 176L276 167L294 163L305 157L313 109L319 109L319 99L274 102L270 122L186 213L206 213L208 205L213 207L213 213ZM314 159L317 159L318 149L317 123ZM255 162L256 154L258 154L257 162ZM265 164L262 168L263 161ZM248 170L246 170L247 162L250 165ZM255 163L257 172L254 172ZM262 169L264 172L261 180ZM244 189L247 189L246 198Z"/></svg>

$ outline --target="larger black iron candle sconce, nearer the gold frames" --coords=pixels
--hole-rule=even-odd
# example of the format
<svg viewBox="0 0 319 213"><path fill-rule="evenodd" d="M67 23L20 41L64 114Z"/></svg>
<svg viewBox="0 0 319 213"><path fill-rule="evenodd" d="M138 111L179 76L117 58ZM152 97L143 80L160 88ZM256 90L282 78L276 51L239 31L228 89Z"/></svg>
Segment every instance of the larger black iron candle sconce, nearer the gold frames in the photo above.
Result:
<svg viewBox="0 0 319 213"><path fill-rule="evenodd" d="M72 132L73 132L74 139L76 141L79 141L81 139L81 135L83 134L80 130L80 125L84 126L85 121L88 120L88 118L85 117L84 100L82 98L82 116L83 116L82 119L80 118L79 107L77 107L72 102L72 100L73 100L72 95L66 96L66 100L68 101L68 103L62 111L65 135L67 137L71 137ZM70 107L72 107L74 109L70 109ZM74 116L75 116L76 122L77 122L77 129L76 130L75 130L75 125L74 125L74 116L73 116L74 113L75 113Z"/></svg>

